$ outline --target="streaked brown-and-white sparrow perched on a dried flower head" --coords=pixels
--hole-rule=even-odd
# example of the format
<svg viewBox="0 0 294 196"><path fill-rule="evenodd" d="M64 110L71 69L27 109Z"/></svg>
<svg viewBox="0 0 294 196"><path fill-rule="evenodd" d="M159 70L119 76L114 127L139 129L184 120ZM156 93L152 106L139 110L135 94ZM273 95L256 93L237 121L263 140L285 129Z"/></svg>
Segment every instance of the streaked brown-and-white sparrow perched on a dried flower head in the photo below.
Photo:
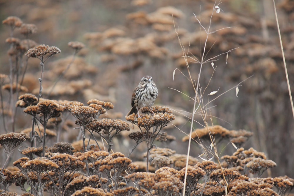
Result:
<svg viewBox="0 0 294 196"><path fill-rule="evenodd" d="M158 95L158 90L151 76L144 76L138 86L135 88L132 95L132 109L128 115L138 112L138 117L141 117L139 110L142 107L151 107ZM151 110L151 108L150 108ZM153 111L151 110L153 113ZM154 114L154 113L153 113Z"/></svg>

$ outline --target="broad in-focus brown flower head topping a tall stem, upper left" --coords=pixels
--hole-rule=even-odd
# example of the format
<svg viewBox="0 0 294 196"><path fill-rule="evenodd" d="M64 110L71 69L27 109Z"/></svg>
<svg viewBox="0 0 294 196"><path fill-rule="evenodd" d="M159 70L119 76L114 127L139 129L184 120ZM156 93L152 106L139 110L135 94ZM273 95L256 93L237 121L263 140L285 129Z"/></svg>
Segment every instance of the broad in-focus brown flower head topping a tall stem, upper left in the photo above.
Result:
<svg viewBox="0 0 294 196"><path fill-rule="evenodd" d="M39 45L29 49L28 52L26 53L26 56L41 58L41 57L44 57L46 54L50 54L50 56L52 56L60 52L61 52L60 49L57 48L56 46L48 46L48 45L46 46L43 44L43 45Z"/></svg>

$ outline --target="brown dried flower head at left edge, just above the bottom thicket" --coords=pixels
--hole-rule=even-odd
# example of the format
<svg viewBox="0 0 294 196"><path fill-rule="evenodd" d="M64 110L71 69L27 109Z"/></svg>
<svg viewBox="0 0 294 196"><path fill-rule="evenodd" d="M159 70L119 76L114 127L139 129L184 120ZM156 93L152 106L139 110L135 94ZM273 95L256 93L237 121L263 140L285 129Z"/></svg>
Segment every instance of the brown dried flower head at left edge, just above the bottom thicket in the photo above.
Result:
<svg viewBox="0 0 294 196"><path fill-rule="evenodd" d="M5 153L11 153L18 145L30 137L24 133L6 133L0 135L0 145L4 147Z"/></svg>

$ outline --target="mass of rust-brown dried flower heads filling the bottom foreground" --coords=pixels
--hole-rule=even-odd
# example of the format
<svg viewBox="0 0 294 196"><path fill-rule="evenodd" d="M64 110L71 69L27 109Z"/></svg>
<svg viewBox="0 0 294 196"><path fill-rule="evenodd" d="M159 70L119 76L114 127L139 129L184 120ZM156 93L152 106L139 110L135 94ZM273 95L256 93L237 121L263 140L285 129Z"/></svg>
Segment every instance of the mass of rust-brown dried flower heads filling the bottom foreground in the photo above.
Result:
<svg viewBox="0 0 294 196"><path fill-rule="evenodd" d="M26 139L26 135L24 139L12 136L1 135L1 144L5 145L9 141L19 144ZM19 138L19 142L11 138ZM1 172L4 189L7 190L11 184L15 184L26 191L25 184L27 184L32 187L34 195L49 192L54 195L113 196L168 196L181 195L183 191L186 168L181 167L183 164L178 164L177 168L171 167L174 161L183 157L174 150L168 148L150 150L150 158L153 159L151 164L158 168L154 173L138 172L138 165L119 152L89 150L73 153L73 151L73 146L68 143L58 143L46 148L43 157L42 147L22 150L22 154L27 157L16 160L13 163L14 168L3 169ZM226 192L227 195L284 195L293 187L294 180L286 176L249 178L241 174L246 167L250 167L248 163L251 161L256 164L260 162L258 164L262 165L264 162L261 159L266 160L264 153L257 152L253 148L248 150L241 148L231 158L228 156L222 158L227 162L226 167L223 163L223 168L219 168L218 164L212 161L190 162L185 187L187 195L225 195ZM241 165L244 170L240 170ZM225 181L229 190L226 189ZM277 192L274 191L275 188Z"/></svg>

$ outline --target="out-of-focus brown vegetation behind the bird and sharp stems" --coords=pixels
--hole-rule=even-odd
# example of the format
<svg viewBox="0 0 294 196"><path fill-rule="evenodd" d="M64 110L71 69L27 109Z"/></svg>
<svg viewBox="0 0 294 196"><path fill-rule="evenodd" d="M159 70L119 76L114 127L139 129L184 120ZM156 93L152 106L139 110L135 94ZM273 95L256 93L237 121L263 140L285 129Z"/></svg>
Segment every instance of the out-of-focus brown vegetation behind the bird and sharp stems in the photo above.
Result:
<svg viewBox="0 0 294 196"><path fill-rule="evenodd" d="M189 51L188 55L200 59L206 34L194 14L207 28L214 3L211 0L0 0L0 20L17 16L24 23L36 24L37 33L29 38L38 44L61 49L60 54L46 62L43 98L78 100L83 103L92 98L110 101L115 106L109 112L110 118L125 120L124 116L131 108L133 89L145 75L151 75L158 87L159 95L155 105L167 105L191 112L193 101L170 89L194 96L193 87L179 71L176 71L173 81L173 71L176 68L187 73L173 23L181 43ZM290 85L294 93L294 3L291 0L277 0L276 5ZM228 54L227 63L226 55L214 62L214 74L210 64L204 66L200 83L202 90L213 74L203 94L204 102L208 101L207 94L211 91L220 88L217 94L209 97L210 100L244 79L253 77L242 83L238 97L233 90L210 104L211 114L217 117L213 118L213 123L229 130L252 131L254 136L246 146L264 152L268 159L277 163L277 167L271 170L272 177L293 177L293 114L273 2L223 0L219 6L223 11L214 13L210 31L224 27L235 28L210 34L206 59L237 49ZM0 25L0 73L7 75L9 44L5 40L9 36L9 28ZM17 29L14 37L25 38ZM86 48L78 53L71 68L49 96L50 88L72 59L73 50L68 47L69 41L80 41ZM199 65L194 62L189 62L189 65L193 79L197 80ZM39 74L38 59L29 59L24 78L27 93L38 94ZM4 92L4 101L8 102L8 98L9 93ZM188 133L189 122L180 114L176 115L176 125ZM31 127L30 119L19 109L16 132ZM201 122L201 116L197 120ZM9 127L9 120L7 122ZM1 123L2 134L4 131ZM197 124L195 128L202 126ZM69 131L71 133L62 139L72 142L76 139L78 130ZM168 134L177 138L169 147L177 153L186 153L188 144L181 141L185 134L172 127L168 129ZM122 142L123 139L120 140L119 144L127 144ZM226 148L225 152L235 151L227 144L228 141L221 147ZM132 148L132 144L129 145ZM122 149L119 146L113 148ZM130 148L126 148L126 152ZM193 145L191 153L192 156L201 154L198 145Z"/></svg>

